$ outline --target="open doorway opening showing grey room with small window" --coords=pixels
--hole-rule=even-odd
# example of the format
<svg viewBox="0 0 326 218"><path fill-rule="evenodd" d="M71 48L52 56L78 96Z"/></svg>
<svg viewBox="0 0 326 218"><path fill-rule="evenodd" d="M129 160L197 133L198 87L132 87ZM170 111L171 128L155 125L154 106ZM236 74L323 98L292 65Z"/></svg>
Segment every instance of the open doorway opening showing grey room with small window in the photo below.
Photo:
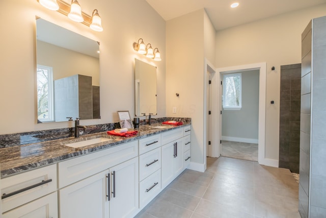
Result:
<svg viewBox="0 0 326 218"><path fill-rule="evenodd" d="M259 69L221 73L221 156L258 161Z"/></svg>

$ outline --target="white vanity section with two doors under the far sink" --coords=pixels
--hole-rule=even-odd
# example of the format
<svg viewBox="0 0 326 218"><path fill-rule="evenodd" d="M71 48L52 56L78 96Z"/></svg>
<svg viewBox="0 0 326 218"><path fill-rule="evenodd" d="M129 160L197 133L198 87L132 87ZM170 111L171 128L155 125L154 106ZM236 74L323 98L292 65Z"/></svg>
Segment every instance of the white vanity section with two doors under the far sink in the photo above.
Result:
<svg viewBox="0 0 326 218"><path fill-rule="evenodd" d="M183 171L183 128L161 134L161 188L165 188Z"/></svg>

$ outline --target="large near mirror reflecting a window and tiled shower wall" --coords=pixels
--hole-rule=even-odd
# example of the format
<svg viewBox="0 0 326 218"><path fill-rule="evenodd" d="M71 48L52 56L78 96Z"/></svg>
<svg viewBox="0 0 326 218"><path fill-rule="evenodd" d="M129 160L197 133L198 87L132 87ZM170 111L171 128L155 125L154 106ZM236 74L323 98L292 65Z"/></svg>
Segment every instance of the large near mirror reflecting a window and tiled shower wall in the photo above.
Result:
<svg viewBox="0 0 326 218"><path fill-rule="evenodd" d="M36 19L37 122L100 118L99 42Z"/></svg>

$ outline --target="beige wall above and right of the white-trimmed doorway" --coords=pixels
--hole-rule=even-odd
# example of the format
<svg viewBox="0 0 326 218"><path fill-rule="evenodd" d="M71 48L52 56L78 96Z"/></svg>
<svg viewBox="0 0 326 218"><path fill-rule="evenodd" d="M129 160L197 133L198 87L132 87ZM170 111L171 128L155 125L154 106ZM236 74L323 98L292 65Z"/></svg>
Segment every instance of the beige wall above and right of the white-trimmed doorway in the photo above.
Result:
<svg viewBox="0 0 326 218"><path fill-rule="evenodd" d="M324 15L326 4L216 33L216 67L267 63L265 158L279 159L280 66L301 63L301 33Z"/></svg>

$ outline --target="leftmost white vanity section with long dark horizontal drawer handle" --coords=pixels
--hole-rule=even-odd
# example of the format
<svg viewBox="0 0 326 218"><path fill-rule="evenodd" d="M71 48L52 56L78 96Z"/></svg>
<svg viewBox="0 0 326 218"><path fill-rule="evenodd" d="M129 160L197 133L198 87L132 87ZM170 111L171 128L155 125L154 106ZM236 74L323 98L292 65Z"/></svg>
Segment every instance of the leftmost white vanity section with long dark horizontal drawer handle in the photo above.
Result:
<svg viewBox="0 0 326 218"><path fill-rule="evenodd" d="M58 217L56 164L1 182L3 217Z"/></svg>

